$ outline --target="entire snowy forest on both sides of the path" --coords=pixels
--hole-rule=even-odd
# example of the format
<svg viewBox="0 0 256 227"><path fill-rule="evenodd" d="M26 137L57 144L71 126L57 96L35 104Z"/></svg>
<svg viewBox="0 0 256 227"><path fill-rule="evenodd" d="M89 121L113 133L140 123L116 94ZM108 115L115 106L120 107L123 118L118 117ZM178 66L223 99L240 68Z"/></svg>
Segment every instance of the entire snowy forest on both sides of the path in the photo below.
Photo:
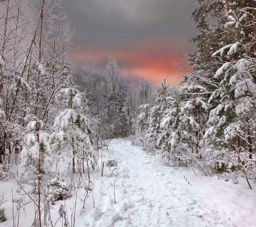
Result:
<svg viewBox="0 0 256 227"><path fill-rule="evenodd" d="M70 60L73 27L56 14L60 6L61 0L0 0L0 181L15 182L35 207L33 223L22 225L17 214L28 201L13 199L19 210L7 211L0 195L0 225L9 212L12 226L55 226L49 204L81 184L85 198L100 187L92 174L103 175L102 149L114 138L129 137L169 168L193 167L235 184L244 178L255 187L254 0L196 0L197 49L180 64L175 88L148 79L132 87L111 53L101 79L86 53L79 70ZM107 162L105 168L117 165ZM61 226L75 226L64 205L58 212Z"/></svg>

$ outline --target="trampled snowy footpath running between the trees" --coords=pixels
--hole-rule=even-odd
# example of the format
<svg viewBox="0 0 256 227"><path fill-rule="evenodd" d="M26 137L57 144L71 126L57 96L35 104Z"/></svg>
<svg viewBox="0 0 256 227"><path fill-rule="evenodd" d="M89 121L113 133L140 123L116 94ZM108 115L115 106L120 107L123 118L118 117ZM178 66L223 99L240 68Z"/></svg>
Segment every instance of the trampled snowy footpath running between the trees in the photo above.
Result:
<svg viewBox="0 0 256 227"><path fill-rule="evenodd" d="M130 143L116 139L109 144L118 160L116 204L112 184L95 202L102 207L92 210L90 226L235 226L201 204L181 168L162 166Z"/></svg>

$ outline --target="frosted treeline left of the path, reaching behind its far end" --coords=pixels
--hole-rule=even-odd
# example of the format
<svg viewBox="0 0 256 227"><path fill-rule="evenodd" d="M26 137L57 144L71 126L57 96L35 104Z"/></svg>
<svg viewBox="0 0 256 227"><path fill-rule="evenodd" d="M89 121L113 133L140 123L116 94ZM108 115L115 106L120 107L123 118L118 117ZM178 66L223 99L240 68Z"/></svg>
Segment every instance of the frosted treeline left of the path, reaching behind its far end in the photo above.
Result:
<svg viewBox="0 0 256 227"><path fill-rule="evenodd" d="M156 87L145 79L138 90L127 86L112 55L100 82L85 56L78 86L70 25L56 14L61 1L0 4L1 176L15 164L20 176L37 178L61 160L89 176L107 140L135 133L137 107L153 103Z"/></svg>

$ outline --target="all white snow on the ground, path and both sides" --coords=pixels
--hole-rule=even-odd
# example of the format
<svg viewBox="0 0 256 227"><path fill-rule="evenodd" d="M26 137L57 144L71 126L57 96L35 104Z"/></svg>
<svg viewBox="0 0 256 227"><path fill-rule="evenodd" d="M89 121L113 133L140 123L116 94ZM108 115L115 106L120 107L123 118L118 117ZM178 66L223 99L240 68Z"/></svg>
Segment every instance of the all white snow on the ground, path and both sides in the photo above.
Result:
<svg viewBox="0 0 256 227"><path fill-rule="evenodd" d="M250 190L242 178L236 185L217 176L196 177L191 168L162 166L157 156L148 157L140 148L132 147L128 138L111 140L102 155L101 163L114 159L118 166L105 166L103 176L94 172L93 193L85 202L83 188L65 201L70 226L72 211L76 227L256 226L256 185ZM11 190L19 197L16 188L12 180L1 183L8 221L0 226L13 226ZM50 211L56 227L63 221L58 219L60 204L64 202L57 201ZM31 226L34 216L29 212L34 205L24 207L19 226Z"/></svg>

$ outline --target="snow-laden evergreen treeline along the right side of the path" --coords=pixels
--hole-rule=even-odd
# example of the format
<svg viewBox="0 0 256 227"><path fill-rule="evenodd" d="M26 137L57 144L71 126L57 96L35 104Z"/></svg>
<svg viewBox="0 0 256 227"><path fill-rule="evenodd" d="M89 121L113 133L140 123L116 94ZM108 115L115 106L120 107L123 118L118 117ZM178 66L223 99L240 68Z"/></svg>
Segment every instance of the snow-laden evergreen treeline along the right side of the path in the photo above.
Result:
<svg viewBox="0 0 256 227"><path fill-rule="evenodd" d="M140 114L141 141L149 151L160 149L167 165L196 163L204 175L222 173L235 183L242 175L250 186L256 177L256 3L197 4L196 53L188 56L178 89L163 83L155 105Z"/></svg>

